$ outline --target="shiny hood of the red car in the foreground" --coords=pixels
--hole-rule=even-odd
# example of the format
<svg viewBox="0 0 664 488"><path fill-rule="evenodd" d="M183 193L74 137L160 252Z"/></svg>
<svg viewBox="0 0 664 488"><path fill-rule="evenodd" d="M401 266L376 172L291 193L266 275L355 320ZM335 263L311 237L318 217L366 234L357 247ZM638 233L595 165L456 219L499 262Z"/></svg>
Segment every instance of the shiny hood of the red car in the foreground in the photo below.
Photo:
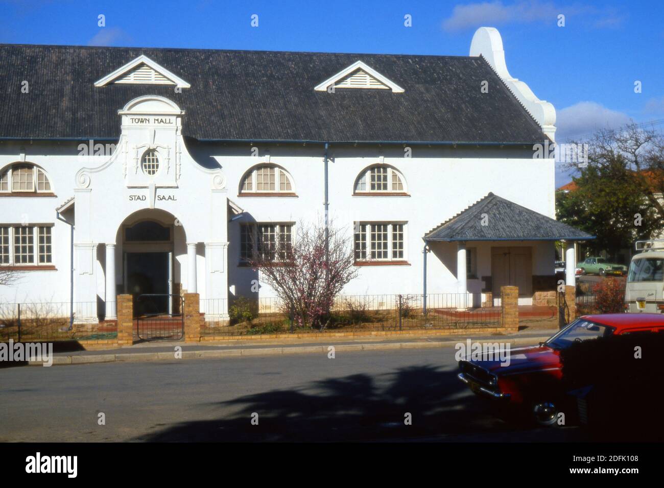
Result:
<svg viewBox="0 0 664 488"><path fill-rule="evenodd" d="M560 367L560 355L554 349L546 346L517 347L510 349L509 354L507 351L501 351L499 354L493 353L493 355L491 353L470 355L465 358L465 361L495 374Z"/></svg>

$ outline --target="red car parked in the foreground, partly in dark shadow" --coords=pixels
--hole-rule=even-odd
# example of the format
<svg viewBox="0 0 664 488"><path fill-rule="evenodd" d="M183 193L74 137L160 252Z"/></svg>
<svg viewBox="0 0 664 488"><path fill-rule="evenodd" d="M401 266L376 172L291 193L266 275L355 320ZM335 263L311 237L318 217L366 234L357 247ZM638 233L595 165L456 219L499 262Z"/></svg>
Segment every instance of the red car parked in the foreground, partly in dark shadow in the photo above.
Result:
<svg viewBox="0 0 664 488"><path fill-rule="evenodd" d="M638 331L664 331L659 313L611 313L584 315L539 346L509 351L509 364L495 360L497 355L459 361L459 380L473 392L517 407L533 416L540 425L553 425L562 411L565 392L561 385L560 351L574 342Z"/></svg>

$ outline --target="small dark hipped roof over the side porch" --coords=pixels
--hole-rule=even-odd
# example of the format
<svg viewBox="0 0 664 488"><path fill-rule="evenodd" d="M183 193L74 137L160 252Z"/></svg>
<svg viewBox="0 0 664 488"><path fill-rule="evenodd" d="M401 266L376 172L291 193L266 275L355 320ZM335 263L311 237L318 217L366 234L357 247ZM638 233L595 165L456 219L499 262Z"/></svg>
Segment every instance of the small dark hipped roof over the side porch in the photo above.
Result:
<svg viewBox="0 0 664 488"><path fill-rule="evenodd" d="M426 241L561 239L586 240L594 236L493 193L424 236Z"/></svg>

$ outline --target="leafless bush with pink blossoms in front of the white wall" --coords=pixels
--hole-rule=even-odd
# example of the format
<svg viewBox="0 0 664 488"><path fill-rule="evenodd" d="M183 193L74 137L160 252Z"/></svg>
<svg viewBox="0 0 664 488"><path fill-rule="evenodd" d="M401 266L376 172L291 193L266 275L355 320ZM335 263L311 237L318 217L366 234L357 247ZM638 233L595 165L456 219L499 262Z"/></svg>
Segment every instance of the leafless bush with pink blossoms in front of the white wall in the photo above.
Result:
<svg viewBox="0 0 664 488"><path fill-rule="evenodd" d="M320 224L298 225L292 242L259 242L250 264L300 327L321 331L329 323L334 297L357 276L351 240L335 228L326 236Z"/></svg>

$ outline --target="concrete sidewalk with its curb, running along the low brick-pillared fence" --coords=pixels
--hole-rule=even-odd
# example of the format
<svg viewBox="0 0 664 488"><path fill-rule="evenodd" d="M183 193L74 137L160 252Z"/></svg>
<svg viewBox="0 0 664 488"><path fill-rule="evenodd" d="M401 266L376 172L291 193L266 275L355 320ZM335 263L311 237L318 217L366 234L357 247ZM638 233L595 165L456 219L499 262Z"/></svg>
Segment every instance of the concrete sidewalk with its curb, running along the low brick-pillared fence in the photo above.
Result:
<svg viewBox="0 0 664 488"><path fill-rule="evenodd" d="M454 347L457 343L465 343L466 339L477 342L509 343L510 347L536 345L545 341L556 333L557 329L540 329L521 331L513 335L477 335L465 337L454 335L441 338L436 337L400 337L398 339L373 339L359 337L357 339L311 338L301 339L284 345L284 341L272 341L254 345L238 345L238 343L215 343L199 345L185 342L152 342L139 343L119 349L102 351L75 351L53 354L53 365L82 365L90 363L112 363L115 361L168 361L180 359L226 358L241 356L268 356L288 354L327 354L330 346L335 347L335 353L347 351L389 351L394 349L418 349L432 347ZM181 348L181 349L178 349ZM30 361L31 366L41 366L42 361Z"/></svg>

